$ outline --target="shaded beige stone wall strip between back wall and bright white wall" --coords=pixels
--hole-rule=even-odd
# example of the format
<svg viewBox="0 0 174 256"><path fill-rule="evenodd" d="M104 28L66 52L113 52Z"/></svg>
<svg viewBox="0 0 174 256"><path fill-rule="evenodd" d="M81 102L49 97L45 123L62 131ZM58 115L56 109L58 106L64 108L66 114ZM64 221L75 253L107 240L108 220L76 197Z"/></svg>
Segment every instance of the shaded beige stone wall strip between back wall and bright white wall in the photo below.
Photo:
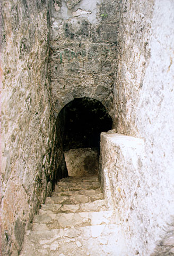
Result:
<svg viewBox="0 0 174 256"><path fill-rule="evenodd" d="M151 56L153 4L153 0L120 3L114 101L115 123L124 134L136 135L138 130L131 110L137 107Z"/></svg>

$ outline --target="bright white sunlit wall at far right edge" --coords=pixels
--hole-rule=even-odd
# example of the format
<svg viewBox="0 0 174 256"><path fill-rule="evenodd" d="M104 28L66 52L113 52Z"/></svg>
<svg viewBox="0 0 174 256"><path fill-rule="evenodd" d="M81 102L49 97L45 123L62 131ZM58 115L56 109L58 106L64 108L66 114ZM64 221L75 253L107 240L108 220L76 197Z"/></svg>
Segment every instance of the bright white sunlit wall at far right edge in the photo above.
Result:
<svg viewBox="0 0 174 256"><path fill-rule="evenodd" d="M151 58L144 77L138 107L135 110L140 136L145 140L146 190L150 223L148 242L158 243L174 227L174 2L155 1L150 42ZM143 185L144 184L144 185ZM146 218L147 219L147 218Z"/></svg>

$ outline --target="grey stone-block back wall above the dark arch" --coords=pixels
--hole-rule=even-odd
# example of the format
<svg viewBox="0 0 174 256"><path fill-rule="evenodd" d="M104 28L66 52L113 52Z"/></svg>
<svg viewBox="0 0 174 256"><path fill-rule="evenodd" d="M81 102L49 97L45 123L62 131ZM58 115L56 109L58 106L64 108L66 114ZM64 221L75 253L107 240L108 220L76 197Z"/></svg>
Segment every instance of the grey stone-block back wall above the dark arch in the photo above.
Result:
<svg viewBox="0 0 174 256"><path fill-rule="evenodd" d="M118 1L52 1L51 88L55 116L74 98L97 99L112 115Z"/></svg>

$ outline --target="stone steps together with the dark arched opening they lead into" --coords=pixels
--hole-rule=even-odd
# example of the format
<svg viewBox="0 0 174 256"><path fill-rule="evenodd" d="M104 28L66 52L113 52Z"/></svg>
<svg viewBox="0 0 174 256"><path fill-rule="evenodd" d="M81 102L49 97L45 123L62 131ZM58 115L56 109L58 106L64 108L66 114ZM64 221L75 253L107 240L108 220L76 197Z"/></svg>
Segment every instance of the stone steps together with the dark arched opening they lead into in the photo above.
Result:
<svg viewBox="0 0 174 256"><path fill-rule="evenodd" d="M98 179L100 133L111 124L97 100L75 99L62 109L57 135L68 177L57 182L35 215L22 256L115 255L116 213L108 208Z"/></svg>

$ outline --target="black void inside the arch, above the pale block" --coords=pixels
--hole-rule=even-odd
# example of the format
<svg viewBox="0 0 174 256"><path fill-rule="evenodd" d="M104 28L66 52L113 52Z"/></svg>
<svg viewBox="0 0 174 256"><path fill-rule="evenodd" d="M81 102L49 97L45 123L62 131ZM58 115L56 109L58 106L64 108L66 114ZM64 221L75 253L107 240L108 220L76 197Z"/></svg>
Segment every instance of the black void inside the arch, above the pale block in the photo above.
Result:
<svg viewBox="0 0 174 256"><path fill-rule="evenodd" d="M63 109L64 150L100 146L100 133L111 130L112 119L98 100L79 98Z"/></svg>

